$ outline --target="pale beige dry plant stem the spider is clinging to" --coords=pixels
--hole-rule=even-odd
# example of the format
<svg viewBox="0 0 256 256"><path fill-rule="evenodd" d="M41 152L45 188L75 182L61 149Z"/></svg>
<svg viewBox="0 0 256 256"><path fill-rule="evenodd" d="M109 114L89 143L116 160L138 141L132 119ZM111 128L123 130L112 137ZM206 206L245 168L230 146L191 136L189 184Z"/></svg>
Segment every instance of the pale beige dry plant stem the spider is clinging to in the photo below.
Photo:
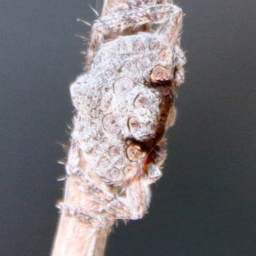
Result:
<svg viewBox="0 0 256 256"><path fill-rule="evenodd" d="M125 3L127 0L104 0L102 16L108 13L108 10L116 4ZM136 29L138 31L139 29ZM146 30L146 29L140 29ZM122 35L129 33L123 31ZM109 33L108 39L115 38L120 35L117 33ZM90 166L87 163L86 169L90 172ZM81 200L84 193L77 189L76 183L67 179L65 186L64 204L74 205L74 202ZM85 200L87 201L87 200ZM110 232L109 227L103 227L100 230L79 221L73 216L68 216L65 212L61 212L60 222L56 233L54 246L52 248L52 256L103 256L106 241Z"/></svg>

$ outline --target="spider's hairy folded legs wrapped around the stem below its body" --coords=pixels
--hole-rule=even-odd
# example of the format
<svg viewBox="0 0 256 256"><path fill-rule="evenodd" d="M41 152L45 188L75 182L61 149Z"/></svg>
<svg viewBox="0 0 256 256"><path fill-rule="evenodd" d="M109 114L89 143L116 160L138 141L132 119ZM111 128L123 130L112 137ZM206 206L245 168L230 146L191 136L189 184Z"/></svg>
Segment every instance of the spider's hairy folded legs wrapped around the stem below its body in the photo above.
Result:
<svg viewBox="0 0 256 256"><path fill-rule="evenodd" d="M110 196L106 191L97 188L90 180L84 179L83 175L74 175L72 179L76 180L78 188L87 195L87 201L94 202L94 207L87 209L88 204L83 202L83 199L72 206L58 202L57 207L66 212L68 216L74 216L93 227L104 227L115 219L136 220L142 218L147 211L150 201L148 188L150 182L145 179L130 180L124 188L124 196Z"/></svg>

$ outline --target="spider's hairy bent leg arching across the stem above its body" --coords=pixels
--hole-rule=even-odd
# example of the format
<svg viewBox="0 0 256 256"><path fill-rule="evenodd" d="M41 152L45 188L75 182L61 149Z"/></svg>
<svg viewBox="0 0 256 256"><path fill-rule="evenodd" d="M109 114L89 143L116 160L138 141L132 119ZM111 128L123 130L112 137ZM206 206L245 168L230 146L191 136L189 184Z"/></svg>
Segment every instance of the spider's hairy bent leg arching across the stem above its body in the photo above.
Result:
<svg viewBox="0 0 256 256"><path fill-rule="evenodd" d="M92 41L88 49L87 67L93 61L95 53L104 43L109 32L122 32L127 28L136 29L144 24L162 24L157 33L167 37L170 42L177 40L182 22L182 11L173 4L142 3L136 6L134 1L120 4L111 12L96 20L92 28Z"/></svg>

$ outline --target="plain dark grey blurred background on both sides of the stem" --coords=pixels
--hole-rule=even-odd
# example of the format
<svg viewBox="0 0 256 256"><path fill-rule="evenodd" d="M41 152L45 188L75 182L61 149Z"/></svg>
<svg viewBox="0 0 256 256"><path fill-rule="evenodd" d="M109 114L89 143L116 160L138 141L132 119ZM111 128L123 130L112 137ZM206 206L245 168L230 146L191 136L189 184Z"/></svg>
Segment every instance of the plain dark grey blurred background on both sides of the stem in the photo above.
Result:
<svg viewBox="0 0 256 256"><path fill-rule="evenodd" d="M106 255L256 255L256 1L175 3L188 64L164 175L147 216L120 223ZM0 1L1 256L50 253L88 5Z"/></svg>

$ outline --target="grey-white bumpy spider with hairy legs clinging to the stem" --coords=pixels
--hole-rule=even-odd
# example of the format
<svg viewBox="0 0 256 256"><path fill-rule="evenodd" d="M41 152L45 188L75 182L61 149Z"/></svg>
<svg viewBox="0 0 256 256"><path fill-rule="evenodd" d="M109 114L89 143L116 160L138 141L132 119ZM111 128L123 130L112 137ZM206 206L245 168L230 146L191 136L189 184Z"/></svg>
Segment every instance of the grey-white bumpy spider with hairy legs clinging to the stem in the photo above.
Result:
<svg viewBox="0 0 256 256"><path fill-rule="evenodd" d="M73 205L59 204L70 216L100 228L147 212L184 81L182 16L166 0L129 0L93 24L86 73L70 87L77 112L67 175L86 194ZM155 31L148 30L152 25ZM141 26L146 32L138 32ZM108 40L125 30L128 35Z"/></svg>

